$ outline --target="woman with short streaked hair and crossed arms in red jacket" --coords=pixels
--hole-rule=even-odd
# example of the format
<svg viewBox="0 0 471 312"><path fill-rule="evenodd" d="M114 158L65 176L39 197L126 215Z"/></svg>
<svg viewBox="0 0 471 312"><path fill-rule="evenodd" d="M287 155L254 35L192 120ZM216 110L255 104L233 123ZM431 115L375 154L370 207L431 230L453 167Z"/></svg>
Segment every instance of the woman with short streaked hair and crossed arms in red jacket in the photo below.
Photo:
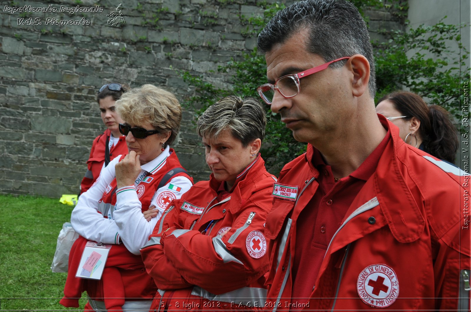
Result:
<svg viewBox="0 0 471 312"><path fill-rule="evenodd" d="M259 101L235 95L198 119L212 173L171 203L141 249L159 288L151 310L251 310L265 303L264 223L278 190L259 153L266 124Z"/></svg>

